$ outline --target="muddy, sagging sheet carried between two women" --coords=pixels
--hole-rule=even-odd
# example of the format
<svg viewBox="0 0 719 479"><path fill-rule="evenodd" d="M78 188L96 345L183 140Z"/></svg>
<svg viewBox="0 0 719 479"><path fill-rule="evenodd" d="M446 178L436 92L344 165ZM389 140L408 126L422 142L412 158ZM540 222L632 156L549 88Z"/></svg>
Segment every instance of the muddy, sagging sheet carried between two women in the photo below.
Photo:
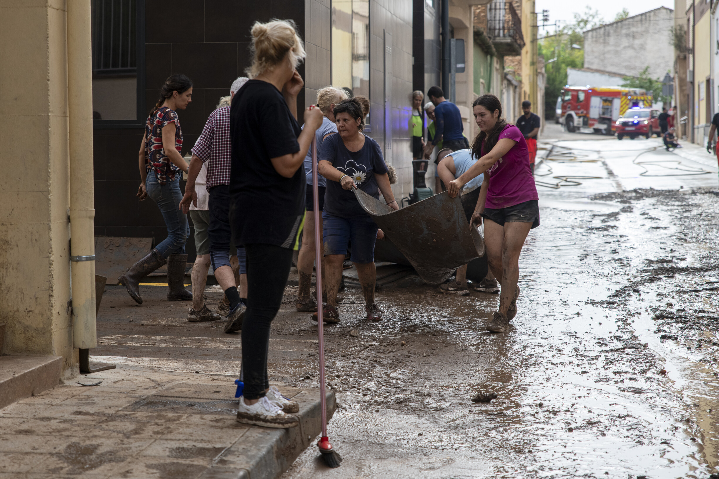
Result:
<svg viewBox="0 0 719 479"><path fill-rule="evenodd" d="M447 192L393 210L362 190L359 204L429 284L440 284L458 266L485 254L477 228L470 228L459 197Z"/></svg>

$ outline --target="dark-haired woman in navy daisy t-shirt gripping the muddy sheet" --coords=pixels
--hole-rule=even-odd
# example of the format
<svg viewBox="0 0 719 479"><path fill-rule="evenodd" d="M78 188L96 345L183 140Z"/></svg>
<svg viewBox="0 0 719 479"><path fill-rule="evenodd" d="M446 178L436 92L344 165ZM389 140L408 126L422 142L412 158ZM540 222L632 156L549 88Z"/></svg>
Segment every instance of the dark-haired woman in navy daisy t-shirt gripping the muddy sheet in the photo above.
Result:
<svg viewBox="0 0 719 479"><path fill-rule="evenodd" d="M324 268L327 304L323 310L324 322L339 322L337 289L342 279L342 261L349 243L352 243L350 260L357 268L359 283L365 294L367 320L380 321L382 313L375 304L375 240L377 225L359 205L352 191L355 188L379 199L380 191L393 210L399 206L390 187L388 167L377 141L362 134L370 102L355 96L334 107L337 130L322 144L319 172L327 182L322 223L324 225ZM382 238L382 233L380 238ZM317 321L317 313L313 315Z"/></svg>

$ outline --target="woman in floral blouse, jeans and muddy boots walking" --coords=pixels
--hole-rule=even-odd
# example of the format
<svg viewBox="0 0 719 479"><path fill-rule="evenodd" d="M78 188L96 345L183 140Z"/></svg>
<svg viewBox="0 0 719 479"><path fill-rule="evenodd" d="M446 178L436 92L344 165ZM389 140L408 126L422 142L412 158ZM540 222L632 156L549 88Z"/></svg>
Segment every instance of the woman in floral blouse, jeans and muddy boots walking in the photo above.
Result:
<svg viewBox="0 0 719 479"><path fill-rule="evenodd" d="M190 234L187 216L179 208L183 194L180 178L188 164L182 154L182 129L177 110L184 110L192 101L192 81L185 75L172 75L160 88L160 99L152 108L145 124L145 136L139 149L139 199L152 198L160 208L168 227L168 237L140 259L122 276L120 282L137 303L142 304L139 282L155 269L168 265L168 301L192 300L185 289L187 254L185 243Z"/></svg>

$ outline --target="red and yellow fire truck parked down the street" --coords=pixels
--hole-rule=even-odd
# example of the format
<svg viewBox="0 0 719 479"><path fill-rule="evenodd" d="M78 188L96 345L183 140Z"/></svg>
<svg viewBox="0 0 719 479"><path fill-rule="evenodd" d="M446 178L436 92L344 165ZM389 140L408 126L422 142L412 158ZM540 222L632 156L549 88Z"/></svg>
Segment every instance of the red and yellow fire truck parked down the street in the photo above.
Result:
<svg viewBox="0 0 719 479"><path fill-rule="evenodd" d="M615 121L629 108L651 106L641 88L566 86L562 90L562 124L567 131L613 135Z"/></svg>

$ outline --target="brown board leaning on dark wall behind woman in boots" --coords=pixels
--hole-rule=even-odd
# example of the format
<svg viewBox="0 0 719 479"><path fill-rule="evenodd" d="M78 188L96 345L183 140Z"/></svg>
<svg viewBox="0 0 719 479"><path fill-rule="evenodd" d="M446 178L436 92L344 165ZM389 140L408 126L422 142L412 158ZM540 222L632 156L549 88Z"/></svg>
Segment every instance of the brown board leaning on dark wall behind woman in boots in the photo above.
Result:
<svg viewBox="0 0 719 479"><path fill-rule="evenodd" d="M107 284L119 284L117 276L150 253L152 238L95 238L95 272Z"/></svg>

